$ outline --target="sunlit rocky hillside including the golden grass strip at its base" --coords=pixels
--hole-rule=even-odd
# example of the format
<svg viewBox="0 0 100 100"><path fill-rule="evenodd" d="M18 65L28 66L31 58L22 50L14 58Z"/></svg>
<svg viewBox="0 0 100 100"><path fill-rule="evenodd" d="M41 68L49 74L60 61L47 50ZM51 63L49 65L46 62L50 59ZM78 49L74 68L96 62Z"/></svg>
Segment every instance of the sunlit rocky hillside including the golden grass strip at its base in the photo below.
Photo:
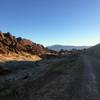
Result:
<svg viewBox="0 0 100 100"><path fill-rule="evenodd" d="M48 49L43 45L21 37L16 38L10 32L0 32L0 61L40 60L39 56L47 51Z"/></svg>

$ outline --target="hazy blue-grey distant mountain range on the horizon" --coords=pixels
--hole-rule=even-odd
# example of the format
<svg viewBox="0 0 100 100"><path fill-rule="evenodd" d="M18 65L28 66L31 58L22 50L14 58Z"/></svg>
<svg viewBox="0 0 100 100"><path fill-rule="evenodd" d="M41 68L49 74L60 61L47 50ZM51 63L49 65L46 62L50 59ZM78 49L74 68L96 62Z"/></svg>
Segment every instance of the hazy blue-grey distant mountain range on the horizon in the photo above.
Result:
<svg viewBox="0 0 100 100"><path fill-rule="evenodd" d="M63 50L72 50L72 49L87 49L89 46L70 46L70 45L52 45L48 46L49 49L55 50L55 51L60 51L61 49Z"/></svg>

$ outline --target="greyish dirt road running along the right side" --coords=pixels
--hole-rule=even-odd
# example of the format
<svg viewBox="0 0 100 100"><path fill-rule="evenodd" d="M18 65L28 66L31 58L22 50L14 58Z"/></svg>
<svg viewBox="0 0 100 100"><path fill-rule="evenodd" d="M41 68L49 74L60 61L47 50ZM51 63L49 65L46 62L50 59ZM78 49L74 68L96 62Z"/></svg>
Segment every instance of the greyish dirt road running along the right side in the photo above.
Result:
<svg viewBox="0 0 100 100"><path fill-rule="evenodd" d="M93 57L83 56L84 72L80 88L80 100L100 100L95 67L100 67Z"/></svg>

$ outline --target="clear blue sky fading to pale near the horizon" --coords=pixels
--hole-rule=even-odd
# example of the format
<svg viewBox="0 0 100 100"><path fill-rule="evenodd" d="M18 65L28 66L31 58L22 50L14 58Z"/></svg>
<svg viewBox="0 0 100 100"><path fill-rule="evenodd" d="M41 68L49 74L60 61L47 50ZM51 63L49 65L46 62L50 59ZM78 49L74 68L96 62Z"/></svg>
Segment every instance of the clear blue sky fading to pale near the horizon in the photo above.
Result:
<svg viewBox="0 0 100 100"><path fill-rule="evenodd" d="M44 46L100 43L100 0L0 0L0 30Z"/></svg>

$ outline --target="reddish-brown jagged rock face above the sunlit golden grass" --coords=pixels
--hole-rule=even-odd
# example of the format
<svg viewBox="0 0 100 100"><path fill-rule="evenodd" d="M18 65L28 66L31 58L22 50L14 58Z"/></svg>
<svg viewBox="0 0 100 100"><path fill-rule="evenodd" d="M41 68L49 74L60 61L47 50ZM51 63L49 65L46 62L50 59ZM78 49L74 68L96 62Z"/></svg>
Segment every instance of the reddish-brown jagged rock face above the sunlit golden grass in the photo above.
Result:
<svg viewBox="0 0 100 100"><path fill-rule="evenodd" d="M42 55L48 51L43 45L33 43L30 40L21 37L16 38L10 32L0 32L0 53L8 54L10 52Z"/></svg>

